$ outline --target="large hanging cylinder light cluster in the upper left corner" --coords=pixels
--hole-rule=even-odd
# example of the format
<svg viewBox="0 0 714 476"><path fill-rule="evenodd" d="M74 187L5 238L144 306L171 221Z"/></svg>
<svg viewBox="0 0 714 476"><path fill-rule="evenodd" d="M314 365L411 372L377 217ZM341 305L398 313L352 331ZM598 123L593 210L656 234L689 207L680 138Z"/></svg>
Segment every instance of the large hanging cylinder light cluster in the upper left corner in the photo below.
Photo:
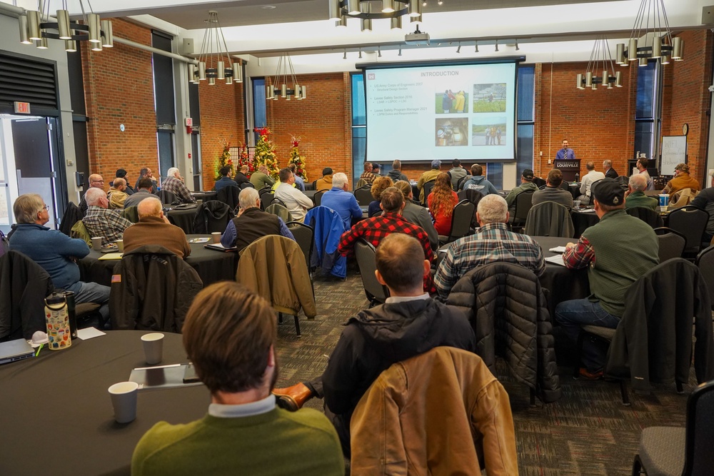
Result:
<svg viewBox="0 0 714 476"><path fill-rule="evenodd" d="M35 44L39 49L47 49L47 39L64 40L66 51L77 51L77 41L89 41L92 51L114 46L114 35L111 31L111 21L99 19L99 15L84 10L84 4L79 0L82 11L80 24L69 19L67 0L61 1L61 9L56 11L56 17L50 16L51 1L39 1L37 10L28 10L19 16L20 43ZM44 21L44 20L47 21Z"/></svg>

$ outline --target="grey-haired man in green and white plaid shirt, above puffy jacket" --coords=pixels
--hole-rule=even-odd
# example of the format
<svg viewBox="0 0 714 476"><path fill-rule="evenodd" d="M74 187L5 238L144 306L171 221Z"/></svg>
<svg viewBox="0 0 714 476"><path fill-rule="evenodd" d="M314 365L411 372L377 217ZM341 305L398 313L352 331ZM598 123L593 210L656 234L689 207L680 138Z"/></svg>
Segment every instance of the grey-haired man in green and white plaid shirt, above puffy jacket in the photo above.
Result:
<svg viewBox="0 0 714 476"><path fill-rule="evenodd" d="M513 263L536 276L543 274L545 261L540 245L530 236L508 231L508 206L503 197L491 194L481 198L476 221L481 228L451 243L436 270L434 284L441 298L448 297L461 276L489 263Z"/></svg>

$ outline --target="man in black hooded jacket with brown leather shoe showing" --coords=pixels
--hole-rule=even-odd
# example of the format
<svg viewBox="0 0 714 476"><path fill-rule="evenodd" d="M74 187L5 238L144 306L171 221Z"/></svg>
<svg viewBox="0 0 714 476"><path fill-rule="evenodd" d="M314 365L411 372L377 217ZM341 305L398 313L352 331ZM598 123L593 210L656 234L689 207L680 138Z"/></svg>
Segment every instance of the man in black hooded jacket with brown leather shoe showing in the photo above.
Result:
<svg viewBox="0 0 714 476"><path fill-rule="evenodd" d="M383 370L441 345L472 352L476 348L466 316L423 292L429 260L418 240L403 233L387 236L377 247L376 265L377 280L389 289L386 303L347 321L320 378L273 390L293 407L311 397L323 398L325 415L335 425L346 455L352 412Z"/></svg>

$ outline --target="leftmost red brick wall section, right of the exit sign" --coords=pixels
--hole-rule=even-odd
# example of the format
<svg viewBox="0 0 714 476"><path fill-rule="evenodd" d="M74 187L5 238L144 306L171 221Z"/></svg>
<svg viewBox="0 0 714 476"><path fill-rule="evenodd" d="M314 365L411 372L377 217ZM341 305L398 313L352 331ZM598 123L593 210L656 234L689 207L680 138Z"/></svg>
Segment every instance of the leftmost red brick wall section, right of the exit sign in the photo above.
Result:
<svg viewBox="0 0 714 476"><path fill-rule="evenodd" d="M111 21L114 36L151 45L151 30ZM90 51L81 43L89 168L104 176L106 189L117 168L126 169L133 185L141 168L159 167L151 53L116 42L114 48Z"/></svg>

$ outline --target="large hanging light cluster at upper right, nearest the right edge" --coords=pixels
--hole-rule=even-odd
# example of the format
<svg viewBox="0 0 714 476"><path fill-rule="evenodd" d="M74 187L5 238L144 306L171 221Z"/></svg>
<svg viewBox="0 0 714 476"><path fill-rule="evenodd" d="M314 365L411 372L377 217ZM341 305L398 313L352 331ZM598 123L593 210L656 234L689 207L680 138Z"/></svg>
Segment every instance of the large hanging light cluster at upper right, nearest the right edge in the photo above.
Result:
<svg viewBox="0 0 714 476"><path fill-rule="evenodd" d="M661 64L669 64L670 59L682 61L683 52L684 41L672 36L664 0L642 0L630 39L618 44L615 56L620 66L628 66L630 61L647 66L650 59Z"/></svg>

